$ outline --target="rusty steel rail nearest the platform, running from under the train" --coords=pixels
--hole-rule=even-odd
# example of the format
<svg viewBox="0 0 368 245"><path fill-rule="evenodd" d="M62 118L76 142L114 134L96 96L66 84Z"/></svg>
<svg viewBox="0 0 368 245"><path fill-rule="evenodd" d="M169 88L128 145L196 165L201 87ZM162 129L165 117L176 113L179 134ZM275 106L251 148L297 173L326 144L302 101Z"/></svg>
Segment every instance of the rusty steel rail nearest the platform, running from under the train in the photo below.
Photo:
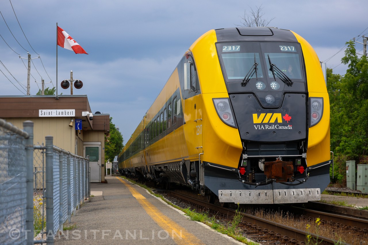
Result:
<svg viewBox="0 0 368 245"><path fill-rule="evenodd" d="M190 196L186 196L184 194L181 193L177 193L174 191L170 191L170 195L176 196L178 198L182 198L187 200L188 202L192 202L195 203L197 205L201 205L204 206L208 209L212 209L215 210L216 212L220 212L220 213L225 213L228 214L230 216L233 216L236 214L236 210L233 209L228 209L225 207L220 207L218 205L214 205L211 203L207 203L205 201L196 199L196 198L192 198ZM269 221L269 220L265 220L256 216L252 216L250 214L246 214L246 213L242 213L242 212L238 212L240 215L243 216L242 222L243 223L251 223L253 225L256 226L260 226L262 228L268 229L270 232L273 231L275 232L275 234L282 234L281 236L283 236L284 238L290 238L291 240L295 239L295 242L298 244L304 244L305 238L307 235L311 235L312 238L314 239L318 239L318 244L321 245L335 245L337 243L339 244L343 244L345 245L345 243L343 242L339 242L336 241L334 239L330 239L327 237L321 237L319 235L316 234L312 234L303 230L299 230L293 227L289 227L289 226L285 226L283 224L278 224L275 223L273 221ZM347 244L346 244L347 245Z"/></svg>

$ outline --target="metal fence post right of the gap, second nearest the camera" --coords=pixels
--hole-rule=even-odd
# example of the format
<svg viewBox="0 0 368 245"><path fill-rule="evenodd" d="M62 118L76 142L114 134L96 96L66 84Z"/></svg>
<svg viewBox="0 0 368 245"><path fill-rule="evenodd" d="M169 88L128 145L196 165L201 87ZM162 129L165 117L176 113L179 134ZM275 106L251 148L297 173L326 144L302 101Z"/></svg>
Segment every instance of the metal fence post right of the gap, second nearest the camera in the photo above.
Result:
<svg viewBox="0 0 368 245"><path fill-rule="evenodd" d="M53 188L53 136L45 137L46 143L46 232L47 244L54 244L54 188Z"/></svg>

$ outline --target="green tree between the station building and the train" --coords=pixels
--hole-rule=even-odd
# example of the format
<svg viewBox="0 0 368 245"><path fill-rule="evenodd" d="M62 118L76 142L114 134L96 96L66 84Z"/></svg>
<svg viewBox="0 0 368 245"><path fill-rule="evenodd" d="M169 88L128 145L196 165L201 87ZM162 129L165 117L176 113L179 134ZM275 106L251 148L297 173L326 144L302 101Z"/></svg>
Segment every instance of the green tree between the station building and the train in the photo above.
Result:
<svg viewBox="0 0 368 245"><path fill-rule="evenodd" d="M124 142L123 135L116 129L112 119L110 117L110 137L105 136L105 162L109 159L112 162L119 155Z"/></svg>

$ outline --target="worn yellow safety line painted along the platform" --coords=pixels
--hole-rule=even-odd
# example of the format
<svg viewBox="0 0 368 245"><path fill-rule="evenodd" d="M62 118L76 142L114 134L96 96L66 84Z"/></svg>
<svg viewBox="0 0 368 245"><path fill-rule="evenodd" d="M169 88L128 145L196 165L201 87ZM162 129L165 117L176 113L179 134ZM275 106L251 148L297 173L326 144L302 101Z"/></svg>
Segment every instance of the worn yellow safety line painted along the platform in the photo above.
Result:
<svg viewBox="0 0 368 245"><path fill-rule="evenodd" d="M169 233L169 236L174 239L174 241L181 245L186 244L204 244L200 239L191 234L184 227L171 220L169 217L164 215L160 210L153 206L143 195L136 191L131 185L120 177L116 177L120 180L132 195L138 200L139 204L144 208L146 213L152 217L152 219L161 227L163 230Z"/></svg>

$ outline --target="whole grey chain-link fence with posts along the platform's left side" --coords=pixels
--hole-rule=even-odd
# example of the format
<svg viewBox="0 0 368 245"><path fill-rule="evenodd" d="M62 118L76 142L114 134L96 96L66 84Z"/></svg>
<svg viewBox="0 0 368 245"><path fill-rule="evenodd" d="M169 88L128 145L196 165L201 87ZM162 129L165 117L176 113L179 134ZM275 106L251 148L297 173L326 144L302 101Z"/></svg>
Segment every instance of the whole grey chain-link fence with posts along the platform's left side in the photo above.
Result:
<svg viewBox="0 0 368 245"><path fill-rule="evenodd" d="M23 126L0 119L0 244L53 244L89 196L89 161L54 146L52 136L33 145L33 123Z"/></svg>

